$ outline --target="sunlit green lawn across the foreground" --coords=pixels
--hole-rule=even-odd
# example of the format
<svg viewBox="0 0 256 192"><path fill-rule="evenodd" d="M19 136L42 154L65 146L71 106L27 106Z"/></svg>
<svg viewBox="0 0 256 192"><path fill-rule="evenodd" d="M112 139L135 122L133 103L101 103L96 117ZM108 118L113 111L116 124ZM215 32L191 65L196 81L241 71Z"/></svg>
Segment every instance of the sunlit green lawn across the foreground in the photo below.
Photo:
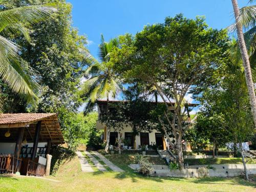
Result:
<svg viewBox="0 0 256 192"><path fill-rule="evenodd" d="M30 177L0 177L1 191L255 191L256 184L240 178L158 178L134 172L82 173L78 158L62 165L54 182Z"/></svg>

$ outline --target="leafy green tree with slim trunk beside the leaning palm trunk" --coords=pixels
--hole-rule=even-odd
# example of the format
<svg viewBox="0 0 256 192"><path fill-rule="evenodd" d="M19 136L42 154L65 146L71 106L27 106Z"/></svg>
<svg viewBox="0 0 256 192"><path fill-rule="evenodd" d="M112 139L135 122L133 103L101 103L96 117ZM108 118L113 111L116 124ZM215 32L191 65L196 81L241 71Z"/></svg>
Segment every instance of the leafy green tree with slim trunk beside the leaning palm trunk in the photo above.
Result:
<svg viewBox="0 0 256 192"><path fill-rule="evenodd" d="M218 75L221 78L216 76L217 83L212 83L198 97L203 107L196 125L199 128L197 131L205 139L211 140L215 137L211 137L209 133L218 131L217 136L223 135L217 137L219 142L233 142L235 152L238 144L246 172L241 143L251 139L255 131L242 65L227 62L227 65L219 69ZM202 120L203 123L200 122ZM209 130L210 126L216 130Z"/></svg>

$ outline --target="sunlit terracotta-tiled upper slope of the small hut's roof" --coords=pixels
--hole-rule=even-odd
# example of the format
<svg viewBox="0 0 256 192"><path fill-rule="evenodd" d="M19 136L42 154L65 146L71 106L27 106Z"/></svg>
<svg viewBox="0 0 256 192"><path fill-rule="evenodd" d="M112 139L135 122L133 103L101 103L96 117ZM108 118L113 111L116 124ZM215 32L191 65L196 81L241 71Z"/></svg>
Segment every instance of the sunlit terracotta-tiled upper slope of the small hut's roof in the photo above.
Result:
<svg viewBox="0 0 256 192"><path fill-rule="evenodd" d="M0 124L30 123L55 115L56 113L5 113L0 114Z"/></svg>

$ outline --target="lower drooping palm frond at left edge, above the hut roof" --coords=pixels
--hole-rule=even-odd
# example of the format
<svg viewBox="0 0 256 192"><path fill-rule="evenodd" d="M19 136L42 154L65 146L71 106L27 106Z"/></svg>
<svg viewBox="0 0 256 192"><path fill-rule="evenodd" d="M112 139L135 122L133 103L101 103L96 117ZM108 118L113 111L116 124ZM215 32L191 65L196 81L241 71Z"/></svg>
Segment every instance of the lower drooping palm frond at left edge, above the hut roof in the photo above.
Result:
<svg viewBox="0 0 256 192"><path fill-rule="evenodd" d="M0 36L1 78L14 92L27 100L35 101L40 89L39 75L17 53L17 45Z"/></svg>

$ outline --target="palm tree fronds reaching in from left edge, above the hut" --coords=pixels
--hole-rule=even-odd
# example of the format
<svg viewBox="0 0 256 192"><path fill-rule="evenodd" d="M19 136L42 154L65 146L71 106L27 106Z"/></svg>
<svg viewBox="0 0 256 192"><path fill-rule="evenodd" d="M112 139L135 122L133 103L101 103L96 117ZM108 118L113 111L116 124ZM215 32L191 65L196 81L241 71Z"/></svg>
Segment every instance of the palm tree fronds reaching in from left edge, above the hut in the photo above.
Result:
<svg viewBox="0 0 256 192"><path fill-rule="evenodd" d="M44 4L5 10L5 1L0 0L0 4L0 78L13 92L34 103L40 89L39 75L19 56L19 46L3 35L20 32L30 41L26 26L49 18L56 9L54 4Z"/></svg>

